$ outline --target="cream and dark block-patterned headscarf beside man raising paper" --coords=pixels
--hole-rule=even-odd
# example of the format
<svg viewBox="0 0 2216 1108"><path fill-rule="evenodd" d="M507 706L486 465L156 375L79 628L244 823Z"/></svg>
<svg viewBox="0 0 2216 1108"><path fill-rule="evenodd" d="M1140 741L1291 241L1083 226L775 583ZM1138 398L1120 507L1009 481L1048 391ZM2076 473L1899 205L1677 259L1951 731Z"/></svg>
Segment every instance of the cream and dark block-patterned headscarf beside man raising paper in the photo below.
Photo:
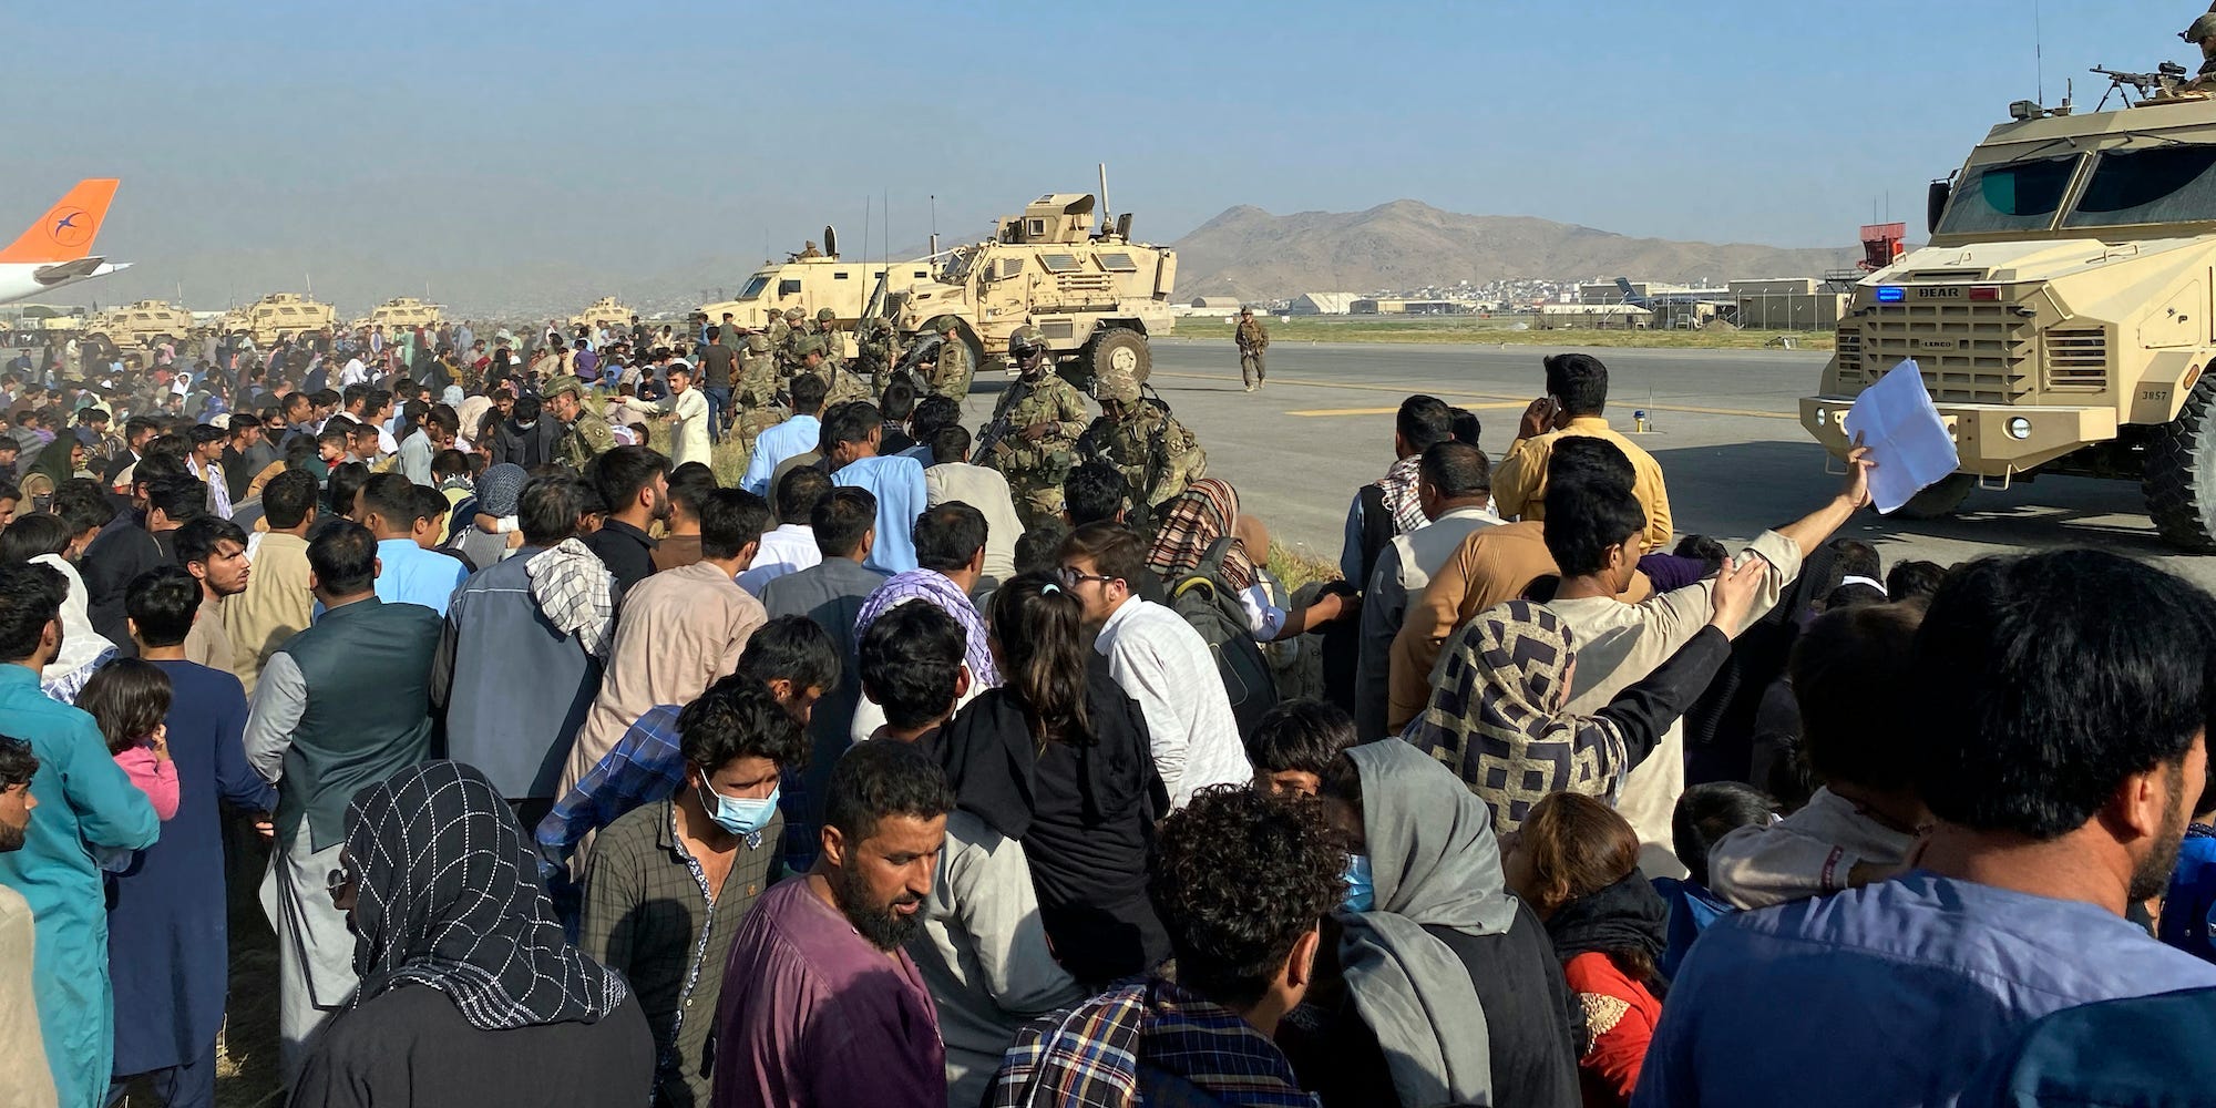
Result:
<svg viewBox="0 0 2216 1108"><path fill-rule="evenodd" d="M1522 827L1547 793L1615 802L1631 769L1624 733L1602 716L1571 716L1569 625L1547 605L1509 601L1454 632L1432 702L1407 729L1416 749L1463 776L1494 809L1494 831Z"/></svg>

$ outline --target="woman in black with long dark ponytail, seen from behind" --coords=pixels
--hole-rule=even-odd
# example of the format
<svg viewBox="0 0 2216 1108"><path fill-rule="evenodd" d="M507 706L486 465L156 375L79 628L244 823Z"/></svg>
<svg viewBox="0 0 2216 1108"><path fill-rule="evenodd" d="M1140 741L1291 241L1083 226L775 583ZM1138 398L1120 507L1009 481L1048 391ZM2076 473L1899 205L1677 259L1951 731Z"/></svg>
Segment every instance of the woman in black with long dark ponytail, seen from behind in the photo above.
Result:
<svg viewBox="0 0 2216 1108"><path fill-rule="evenodd" d="M1170 809L1146 718L1055 578L1010 578L988 618L1006 683L942 731L955 800L1024 844L1039 922L1070 977L1092 986L1146 973L1170 955L1146 900L1146 851Z"/></svg>

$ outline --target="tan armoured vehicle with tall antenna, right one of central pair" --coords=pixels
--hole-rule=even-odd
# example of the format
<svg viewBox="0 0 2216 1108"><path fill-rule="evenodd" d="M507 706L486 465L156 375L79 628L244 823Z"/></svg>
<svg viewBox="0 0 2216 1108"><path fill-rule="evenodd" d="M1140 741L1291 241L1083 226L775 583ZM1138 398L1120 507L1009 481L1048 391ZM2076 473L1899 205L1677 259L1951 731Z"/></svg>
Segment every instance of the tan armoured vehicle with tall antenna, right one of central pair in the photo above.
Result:
<svg viewBox="0 0 2216 1108"><path fill-rule="evenodd" d="M1177 253L1130 242L1130 213L1095 228L1088 193L1048 193L1002 217L991 239L924 261L929 277L880 288L869 304L902 339L924 335L909 359L935 348L937 319L951 315L975 355L1006 359L1008 335L1030 328L1079 388L1108 366L1146 381L1148 339L1174 324Z"/></svg>

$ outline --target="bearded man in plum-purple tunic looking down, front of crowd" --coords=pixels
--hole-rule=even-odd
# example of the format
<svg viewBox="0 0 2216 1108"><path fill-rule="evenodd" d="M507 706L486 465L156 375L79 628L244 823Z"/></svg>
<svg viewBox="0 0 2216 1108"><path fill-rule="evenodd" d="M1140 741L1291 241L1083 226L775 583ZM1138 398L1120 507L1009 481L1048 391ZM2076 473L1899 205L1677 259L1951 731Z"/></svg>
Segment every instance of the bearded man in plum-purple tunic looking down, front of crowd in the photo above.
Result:
<svg viewBox="0 0 2216 1108"><path fill-rule="evenodd" d="M716 1004L716 1108L946 1104L931 993L902 948L946 844L955 791L900 740L831 769L815 869L762 893Z"/></svg>

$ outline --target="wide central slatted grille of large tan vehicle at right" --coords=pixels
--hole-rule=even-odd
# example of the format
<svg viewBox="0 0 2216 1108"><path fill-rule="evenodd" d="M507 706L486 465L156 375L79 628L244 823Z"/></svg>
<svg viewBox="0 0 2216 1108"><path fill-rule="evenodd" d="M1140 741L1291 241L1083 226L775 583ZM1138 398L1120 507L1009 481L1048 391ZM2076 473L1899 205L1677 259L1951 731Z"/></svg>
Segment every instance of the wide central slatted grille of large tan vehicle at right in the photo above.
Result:
<svg viewBox="0 0 2216 1108"><path fill-rule="evenodd" d="M1861 366L1877 379L1904 359L1939 403L2021 403L2037 330L2003 304L1899 304L1861 319Z"/></svg>

